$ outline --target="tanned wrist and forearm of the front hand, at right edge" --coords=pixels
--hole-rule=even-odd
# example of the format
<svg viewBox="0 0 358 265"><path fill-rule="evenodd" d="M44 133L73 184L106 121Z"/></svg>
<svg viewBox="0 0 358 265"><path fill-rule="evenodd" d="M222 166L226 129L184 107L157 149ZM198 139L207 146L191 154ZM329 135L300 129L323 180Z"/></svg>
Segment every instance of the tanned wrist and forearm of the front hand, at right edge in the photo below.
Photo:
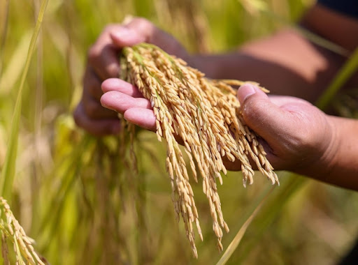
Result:
<svg viewBox="0 0 358 265"><path fill-rule="evenodd" d="M327 116L333 141L317 162L301 169L302 174L343 188L358 190L358 121Z"/></svg>

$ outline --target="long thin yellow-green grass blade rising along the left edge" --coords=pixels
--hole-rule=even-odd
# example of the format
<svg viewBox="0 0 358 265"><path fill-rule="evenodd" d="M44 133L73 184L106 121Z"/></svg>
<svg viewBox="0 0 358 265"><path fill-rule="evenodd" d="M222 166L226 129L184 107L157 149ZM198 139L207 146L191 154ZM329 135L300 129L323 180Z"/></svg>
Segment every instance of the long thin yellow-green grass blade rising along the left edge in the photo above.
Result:
<svg viewBox="0 0 358 265"><path fill-rule="evenodd" d="M13 122L11 124L10 130L10 139L8 140L8 147L6 151L5 162L3 165L3 169L1 172L0 179L0 195L8 199L10 202L10 194L13 189L13 180L15 176L15 162L17 156L17 139L19 135L19 126L20 126L20 114L21 114L21 105L22 105L22 93L24 89L24 82L27 77L27 73L29 72L29 66L31 63L32 55L34 54L34 50L36 47L36 40L38 36L38 32L40 31L40 27L43 21L43 15L45 13L46 6L48 4L48 0L41 1L41 8L38 13L38 19L36 22L36 26L34 29L34 33L32 34L32 38L29 45L29 52L27 53L27 59L24 66L24 71L22 73L21 82L19 91L17 93L17 99L15 103L15 109L13 114Z"/></svg>

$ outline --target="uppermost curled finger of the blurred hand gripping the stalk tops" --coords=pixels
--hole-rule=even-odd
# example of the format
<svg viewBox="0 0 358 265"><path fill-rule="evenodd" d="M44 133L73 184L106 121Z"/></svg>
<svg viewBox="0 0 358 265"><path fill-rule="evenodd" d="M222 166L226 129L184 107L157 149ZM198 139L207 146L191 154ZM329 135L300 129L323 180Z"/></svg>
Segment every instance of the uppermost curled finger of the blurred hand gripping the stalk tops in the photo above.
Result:
<svg viewBox="0 0 358 265"><path fill-rule="evenodd" d="M118 54L121 47L113 43L110 33L123 28L120 24L109 25L88 51L88 63L102 80L119 76Z"/></svg>

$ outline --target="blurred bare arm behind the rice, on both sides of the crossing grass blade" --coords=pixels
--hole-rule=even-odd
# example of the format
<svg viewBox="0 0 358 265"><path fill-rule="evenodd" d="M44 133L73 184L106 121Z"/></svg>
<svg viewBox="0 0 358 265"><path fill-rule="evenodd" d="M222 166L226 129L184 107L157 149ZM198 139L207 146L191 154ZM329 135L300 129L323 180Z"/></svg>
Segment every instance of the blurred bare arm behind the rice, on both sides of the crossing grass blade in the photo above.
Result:
<svg viewBox="0 0 358 265"><path fill-rule="evenodd" d="M301 24L352 52L358 45L358 21L314 6ZM192 56L193 65L211 78L252 80L271 93L315 102L346 58L311 43L293 29L248 43L230 54ZM357 86L358 76L348 87Z"/></svg>

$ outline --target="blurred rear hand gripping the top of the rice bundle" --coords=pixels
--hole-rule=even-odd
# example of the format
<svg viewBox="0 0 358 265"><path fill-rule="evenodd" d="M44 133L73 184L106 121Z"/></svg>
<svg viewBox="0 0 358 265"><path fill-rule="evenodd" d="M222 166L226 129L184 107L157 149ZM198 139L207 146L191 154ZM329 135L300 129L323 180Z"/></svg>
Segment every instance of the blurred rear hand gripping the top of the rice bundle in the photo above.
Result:
<svg viewBox="0 0 358 265"><path fill-rule="evenodd" d="M112 24L103 30L90 48L83 78L83 96L73 116L78 126L92 135L110 135L120 131L117 114L101 106L101 82L118 77L118 54L122 47L138 43L152 43L169 54L188 60L185 49L172 36L143 18L134 18L127 24Z"/></svg>

